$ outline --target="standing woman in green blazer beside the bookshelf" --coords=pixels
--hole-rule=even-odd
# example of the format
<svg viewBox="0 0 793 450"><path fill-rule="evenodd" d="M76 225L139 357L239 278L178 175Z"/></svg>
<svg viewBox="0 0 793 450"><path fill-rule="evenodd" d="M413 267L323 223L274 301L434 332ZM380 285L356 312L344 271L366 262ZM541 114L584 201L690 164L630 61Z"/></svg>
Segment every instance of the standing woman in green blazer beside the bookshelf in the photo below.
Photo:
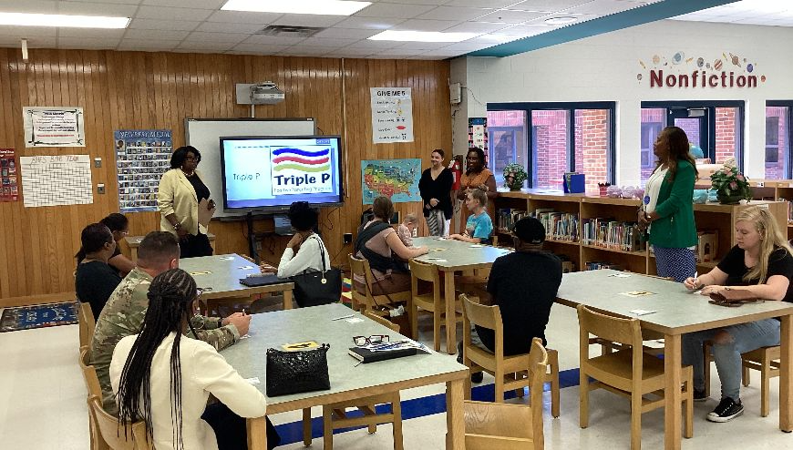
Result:
<svg viewBox="0 0 793 450"><path fill-rule="evenodd" d="M658 161L638 214L639 226L650 232L658 275L679 282L696 271L693 197L697 171L688 148L683 129L661 131L653 146Z"/></svg>

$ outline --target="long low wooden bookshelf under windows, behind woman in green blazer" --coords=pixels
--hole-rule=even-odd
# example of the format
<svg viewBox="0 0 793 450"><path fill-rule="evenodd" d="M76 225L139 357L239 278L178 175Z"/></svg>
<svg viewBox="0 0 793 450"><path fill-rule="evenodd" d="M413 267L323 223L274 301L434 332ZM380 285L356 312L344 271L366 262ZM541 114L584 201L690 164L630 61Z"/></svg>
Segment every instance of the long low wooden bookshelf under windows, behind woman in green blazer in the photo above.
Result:
<svg viewBox="0 0 793 450"><path fill-rule="evenodd" d="M789 189L789 198L793 199L793 181L785 180L786 185L781 189ZM765 188L765 186L764 186ZM780 189L775 187L774 189ZM777 195L778 190L775 190ZM552 209L557 212L578 214L579 227L586 219L611 218L616 221L633 222L636 220L636 211L640 205L639 199L611 199L592 197L584 194L554 193L541 189L521 189L520 191L499 191L499 197L494 199L494 208L497 211L497 221L500 219L498 210L522 210L533 212L538 209ZM788 202L752 200L747 205L721 205L718 203L705 203L694 205L694 216L697 230L717 230L718 244L715 261L697 263L697 271L705 273L716 267L720 261L735 245L735 220L738 212L749 206L767 205L768 209L777 218L780 226L785 229L788 224ZM497 233L504 236L505 242L510 233L500 230L496 224ZM793 223L788 226L788 233L793 233ZM572 261L574 270L581 271L588 261L604 261L618 264L626 271L639 273L655 273L655 257L650 251L626 251L622 249L602 247L582 243L582 230L578 230L579 240L546 239L545 250L558 255L564 255Z"/></svg>

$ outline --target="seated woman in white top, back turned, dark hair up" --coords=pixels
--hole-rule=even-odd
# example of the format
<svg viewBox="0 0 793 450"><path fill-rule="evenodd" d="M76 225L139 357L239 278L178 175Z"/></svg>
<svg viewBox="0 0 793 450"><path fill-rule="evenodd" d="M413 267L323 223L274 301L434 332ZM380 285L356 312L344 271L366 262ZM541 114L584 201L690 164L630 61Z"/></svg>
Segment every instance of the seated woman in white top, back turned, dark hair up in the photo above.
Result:
<svg viewBox="0 0 793 450"><path fill-rule="evenodd" d="M324 242L314 232L317 223L316 210L307 201L295 201L289 207L289 220L292 222L294 236L281 256L278 267L263 264L263 272L277 272L278 278L287 278L303 271L322 271L324 254L325 267L330 269L330 254Z"/></svg>

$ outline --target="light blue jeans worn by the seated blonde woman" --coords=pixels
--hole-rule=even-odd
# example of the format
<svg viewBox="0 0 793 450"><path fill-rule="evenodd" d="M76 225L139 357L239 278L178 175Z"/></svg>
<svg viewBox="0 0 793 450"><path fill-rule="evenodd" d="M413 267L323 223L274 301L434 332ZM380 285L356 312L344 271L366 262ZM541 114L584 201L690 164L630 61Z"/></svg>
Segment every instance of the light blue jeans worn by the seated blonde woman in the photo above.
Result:
<svg viewBox="0 0 793 450"><path fill-rule="evenodd" d="M741 390L741 353L751 352L760 347L779 345L779 325L777 319L740 323L726 328L716 328L683 335L683 365L694 368L694 388L705 389L705 367L702 343L713 341L717 332L729 333L728 343L713 343L713 359L716 362L718 378L721 380L721 398L740 398Z"/></svg>

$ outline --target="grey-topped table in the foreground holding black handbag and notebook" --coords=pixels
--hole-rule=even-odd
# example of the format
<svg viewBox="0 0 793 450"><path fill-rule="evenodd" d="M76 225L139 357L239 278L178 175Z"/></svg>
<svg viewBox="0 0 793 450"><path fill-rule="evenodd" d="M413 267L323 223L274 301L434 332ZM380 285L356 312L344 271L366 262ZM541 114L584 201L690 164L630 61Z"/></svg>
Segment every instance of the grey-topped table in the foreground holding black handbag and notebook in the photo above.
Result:
<svg viewBox="0 0 793 450"><path fill-rule="evenodd" d="M336 318L347 319L333 320ZM351 319L356 319L351 322ZM357 320L360 319L360 320ZM447 448L465 448L463 420L463 384L469 376L468 367L454 358L432 352L414 356L357 364L347 354L353 347L353 336L387 334L391 341L404 338L401 334L380 325L360 312L340 303L332 303L289 311L253 314L250 337L223 350L226 358L243 378L258 377L254 386L267 394L266 353L268 348L281 350L285 343L314 341L329 343L327 353L331 388L327 391L267 397L267 414L345 402L369 395L384 394L429 384L446 383ZM267 448L264 417L248 420L248 448ZM331 430L327 430L332 433Z"/></svg>

